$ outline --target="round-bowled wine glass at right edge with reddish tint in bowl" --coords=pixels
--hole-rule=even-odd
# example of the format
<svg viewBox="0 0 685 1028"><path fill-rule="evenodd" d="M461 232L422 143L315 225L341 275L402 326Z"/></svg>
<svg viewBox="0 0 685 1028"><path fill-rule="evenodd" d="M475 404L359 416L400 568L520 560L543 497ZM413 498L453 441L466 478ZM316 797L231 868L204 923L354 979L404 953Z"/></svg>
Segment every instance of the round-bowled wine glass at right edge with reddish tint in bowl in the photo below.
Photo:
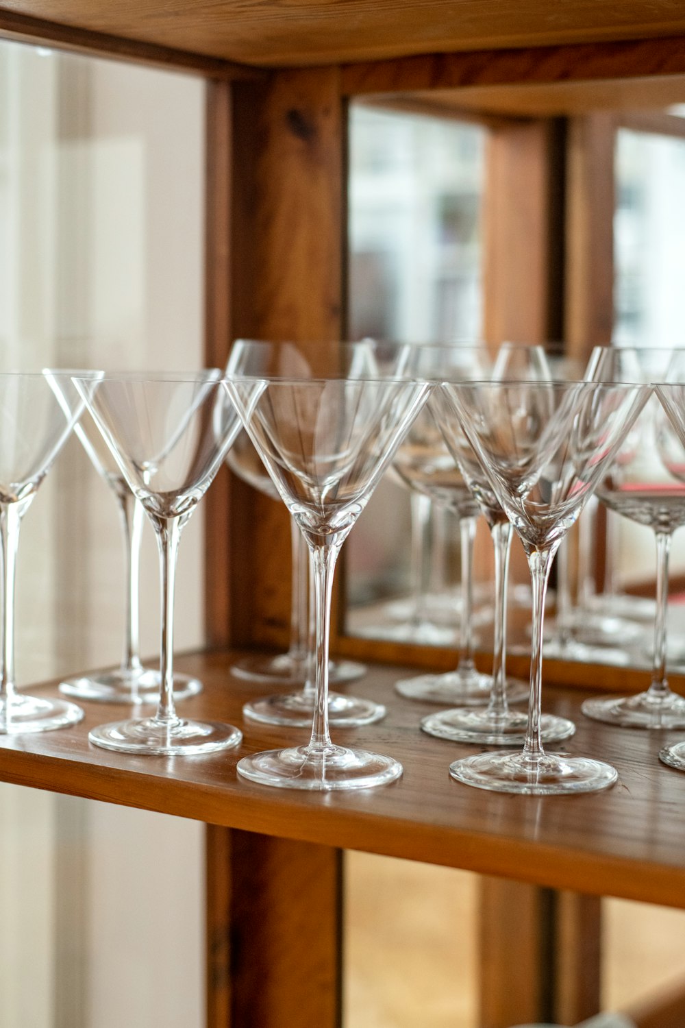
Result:
<svg viewBox="0 0 685 1028"><path fill-rule="evenodd" d="M672 350L607 347L594 354L596 379L658 381L665 379ZM663 420L661 419L663 418ZM667 678L667 615L669 554L674 531L685 524L685 484L660 460L659 434L671 426L654 393L641 411L597 489L610 510L652 528L656 540L656 615L653 661L649 688L633 696L599 696L587 699L582 711L595 721L623 728L685 728L685 699L672 691ZM679 439L673 466L685 462ZM680 462L679 462L680 458Z"/></svg>

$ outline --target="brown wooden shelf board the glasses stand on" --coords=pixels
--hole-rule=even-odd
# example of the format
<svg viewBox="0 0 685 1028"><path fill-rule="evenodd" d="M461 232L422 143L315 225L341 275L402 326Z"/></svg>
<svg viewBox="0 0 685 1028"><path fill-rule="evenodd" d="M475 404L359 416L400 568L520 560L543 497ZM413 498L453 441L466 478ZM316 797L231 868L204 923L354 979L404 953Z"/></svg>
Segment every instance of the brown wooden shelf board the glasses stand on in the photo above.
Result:
<svg viewBox="0 0 685 1028"><path fill-rule="evenodd" d="M308 733L245 724L242 703L268 690L233 678L230 663L231 654L217 652L180 657L177 666L199 675L205 687L183 703L183 713L239 725L244 739L238 749L185 759L109 752L88 743L88 729L121 720L129 708L84 703L85 719L73 728L0 738L0 778L270 836L685 907L685 774L657 760L663 741L678 733L589 722L579 710L587 694L547 688L544 708L577 725L559 750L607 759L618 770L617 784L584 796L488 793L450 778L450 762L474 747L419 730L420 717L435 708L393 693L393 682L407 672L372 666L348 689L386 703L386 719L339 729L334 741L397 758L402 779L348 794L268 788L238 778L238 758L304 742ZM55 684L29 691L53 693Z"/></svg>

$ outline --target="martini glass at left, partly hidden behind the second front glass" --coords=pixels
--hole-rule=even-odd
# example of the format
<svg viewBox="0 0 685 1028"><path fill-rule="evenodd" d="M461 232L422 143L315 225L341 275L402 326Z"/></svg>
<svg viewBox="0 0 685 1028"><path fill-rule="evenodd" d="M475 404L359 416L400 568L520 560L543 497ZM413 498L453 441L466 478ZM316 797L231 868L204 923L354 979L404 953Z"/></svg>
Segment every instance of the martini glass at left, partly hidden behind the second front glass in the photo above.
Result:
<svg viewBox="0 0 685 1028"><path fill-rule="evenodd" d="M74 389L71 381L69 387ZM93 468L116 500L124 547L125 628L119 667L67 678L60 684L60 692L77 699L101 703L156 703L159 698L159 671L143 665L139 645L140 552L145 511L136 500L87 410L74 427L74 432ZM197 678L175 672L175 700L194 696L201 688Z"/></svg>

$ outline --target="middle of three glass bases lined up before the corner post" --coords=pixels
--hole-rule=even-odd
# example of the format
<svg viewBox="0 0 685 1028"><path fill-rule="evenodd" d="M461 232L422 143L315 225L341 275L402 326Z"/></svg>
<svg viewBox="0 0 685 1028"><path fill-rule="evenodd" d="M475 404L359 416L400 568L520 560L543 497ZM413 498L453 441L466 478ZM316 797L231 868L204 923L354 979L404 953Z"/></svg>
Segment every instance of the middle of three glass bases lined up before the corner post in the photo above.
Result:
<svg viewBox="0 0 685 1028"><path fill-rule="evenodd" d="M262 725L287 725L292 728L309 728L314 715L315 694L304 690L287 696L265 696L252 700L242 707L249 721ZM385 717L386 709L372 700L360 700L354 696L329 693L329 722L337 728L354 728L373 725Z"/></svg>

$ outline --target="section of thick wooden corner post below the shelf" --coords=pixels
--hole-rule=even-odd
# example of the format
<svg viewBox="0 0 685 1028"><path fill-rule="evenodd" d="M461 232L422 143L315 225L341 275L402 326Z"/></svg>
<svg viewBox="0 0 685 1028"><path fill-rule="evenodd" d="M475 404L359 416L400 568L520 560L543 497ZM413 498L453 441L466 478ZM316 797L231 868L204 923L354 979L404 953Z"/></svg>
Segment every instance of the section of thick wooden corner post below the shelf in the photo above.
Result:
<svg viewBox="0 0 685 1028"><path fill-rule="evenodd" d="M207 1028L336 1028L341 853L207 825Z"/></svg>

